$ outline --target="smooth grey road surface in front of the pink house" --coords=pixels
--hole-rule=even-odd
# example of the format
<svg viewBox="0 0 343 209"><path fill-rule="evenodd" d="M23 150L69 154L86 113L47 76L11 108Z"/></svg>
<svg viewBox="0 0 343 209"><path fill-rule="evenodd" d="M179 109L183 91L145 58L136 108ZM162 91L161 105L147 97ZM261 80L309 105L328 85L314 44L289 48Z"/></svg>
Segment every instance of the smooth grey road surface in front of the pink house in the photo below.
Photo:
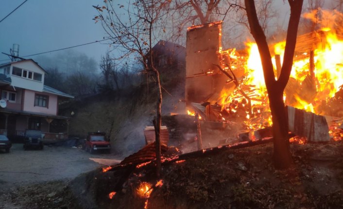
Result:
<svg viewBox="0 0 343 209"><path fill-rule="evenodd" d="M13 144L10 153L0 151L0 190L42 181L71 179L102 166L89 158L111 157L108 154L91 155L78 148L62 146L24 151L22 144Z"/></svg>

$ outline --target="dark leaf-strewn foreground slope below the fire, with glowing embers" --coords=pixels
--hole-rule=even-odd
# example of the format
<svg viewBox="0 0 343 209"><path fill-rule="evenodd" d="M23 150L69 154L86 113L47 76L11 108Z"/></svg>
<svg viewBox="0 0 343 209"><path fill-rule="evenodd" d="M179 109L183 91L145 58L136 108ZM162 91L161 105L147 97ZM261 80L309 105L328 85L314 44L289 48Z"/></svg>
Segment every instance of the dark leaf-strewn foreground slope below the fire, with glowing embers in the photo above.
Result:
<svg viewBox="0 0 343 209"><path fill-rule="evenodd" d="M160 178L149 165L98 169L69 183L23 186L6 195L32 209L343 208L342 141L291 145L294 164L284 171L274 169L272 147L207 150L200 157L164 163ZM153 190L144 195L141 185Z"/></svg>

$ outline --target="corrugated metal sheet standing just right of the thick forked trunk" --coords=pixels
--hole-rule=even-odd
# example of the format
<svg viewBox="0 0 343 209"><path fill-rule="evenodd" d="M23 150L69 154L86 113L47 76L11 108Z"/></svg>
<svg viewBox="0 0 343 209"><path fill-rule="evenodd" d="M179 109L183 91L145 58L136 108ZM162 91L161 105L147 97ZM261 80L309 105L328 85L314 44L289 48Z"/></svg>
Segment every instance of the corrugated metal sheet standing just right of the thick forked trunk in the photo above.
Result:
<svg viewBox="0 0 343 209"><path fill-rule="evenodd" d="M289 130L298 136L307 137L308 142L330 141L326 118L287 106Z"/></svg>

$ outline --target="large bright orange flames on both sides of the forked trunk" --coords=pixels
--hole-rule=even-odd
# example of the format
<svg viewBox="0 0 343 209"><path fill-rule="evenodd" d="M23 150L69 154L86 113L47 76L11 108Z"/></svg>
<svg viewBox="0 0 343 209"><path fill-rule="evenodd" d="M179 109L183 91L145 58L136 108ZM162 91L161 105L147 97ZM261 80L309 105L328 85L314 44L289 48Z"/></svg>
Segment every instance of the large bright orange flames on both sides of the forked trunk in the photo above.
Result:
<svg viewBox="0 0 343 209"><path fill-rule="evenodd" d="M312 33L318 40L314 43L313 73L309 69L310 51L301 52L302 54L299 54L299 51L297 51L298 54L294 57L290 76L292 83L290 84L289 82L289 88L292 91L284 95L286 105L317 114L323 113L320 106L326 104L328 99L335 96L335 93L343 85L343 36L337 35L337 32L343 34L343 30L340 28L341 26L337 27L337 25L332 24L337 23L337 21L333 21L335 18L343 20L343 15L337 11L329 13L329 11L321 10L320 12L324 16L324 19L320 22L322 29ZM311 19L313 14L305 14L304 16ZM280 55L280 64L282 64L285 45L286 42L282 41L274 44L270 48L273 55L272 62L274 65L275 79L277 79L275 55ZM251 99L253 113L251 114L246 111L245 124L250 129L271 126L271 114L267 114L267 112L270 112L268 94L265 87L257 44L248 42L246 46L248 56L244 61L245 77L240 81L240 88L243 89L243 86L249 86L250 89L247 92L253 91L253 93L247 93ZM233 52L235 50L232 50L230 54L228 50L221 49L219 51L222 56L226 53L225 56L229 56L231 60L237 61L240 59L240 57L232 54ZM232 70L235 70L237 67L234 64L231 64L231 66ZM243 100L245 98L237 88L234 92L223 88L219 103L228 113L236 113L238 111L237 102L242 103L243 106L246 105L246 102Z"/></svg>

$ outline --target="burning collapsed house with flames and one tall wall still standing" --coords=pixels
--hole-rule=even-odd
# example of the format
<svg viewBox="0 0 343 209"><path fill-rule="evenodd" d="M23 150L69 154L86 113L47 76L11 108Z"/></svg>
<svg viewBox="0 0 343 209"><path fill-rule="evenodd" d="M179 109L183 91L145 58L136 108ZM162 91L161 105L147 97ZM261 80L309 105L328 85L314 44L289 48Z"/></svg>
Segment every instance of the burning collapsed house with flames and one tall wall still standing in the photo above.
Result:
<svg viewBox="0 0 343 209"><path fill-rule="evenodd" d="M224 50L221 36L221 22L188 30L185 93L188 113L198 113L206 123L217 122L231 128L235 124L239 126L233 134L236 138L245 132L249 133L249 140L255 140L254 131L272 125L257 44L248 42L243 51ZM285 41L269 48L274 75L278 78ZM298 36L291 77L284 91L289 118L293 118L289 126L295 126L292 129L295 135L313 141L341 139L342 131L337 126L343 122L340 118L343 116L342 50L343 35L335 28ZM311 123L315 125L307 125ZM267 132L271 136L271 131Z"/></svg>

